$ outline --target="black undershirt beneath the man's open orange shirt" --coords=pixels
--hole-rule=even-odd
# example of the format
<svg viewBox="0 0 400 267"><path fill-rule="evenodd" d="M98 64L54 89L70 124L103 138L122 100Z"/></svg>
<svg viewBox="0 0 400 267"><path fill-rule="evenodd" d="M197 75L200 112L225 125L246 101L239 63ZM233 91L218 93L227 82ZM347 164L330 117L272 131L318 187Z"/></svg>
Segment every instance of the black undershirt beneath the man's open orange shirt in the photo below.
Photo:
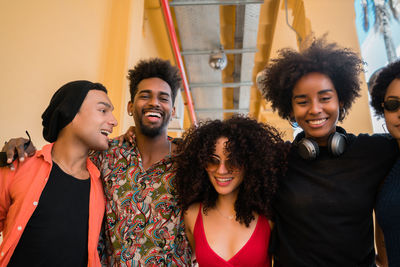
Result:
<svg viewBox="0 0 400 267"><path fill-rule="evenodd" d="M87 266L90 179L53 162L38 206L8 266Z"/></svg>

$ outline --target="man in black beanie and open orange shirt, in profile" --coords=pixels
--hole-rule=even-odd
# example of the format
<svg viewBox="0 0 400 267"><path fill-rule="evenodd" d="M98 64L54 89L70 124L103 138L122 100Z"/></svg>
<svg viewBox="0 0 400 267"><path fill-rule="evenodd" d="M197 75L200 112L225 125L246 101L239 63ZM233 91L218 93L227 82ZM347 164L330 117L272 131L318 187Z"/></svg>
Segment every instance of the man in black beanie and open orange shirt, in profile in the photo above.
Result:
<svg viewBox="0 0 400 267"><path fill-rule="evenodd" d="M0 168L0 266L100 266L105 197L87 155L108 148L112 110L103 85L65 84L42 115L51 144Z"/></svg>

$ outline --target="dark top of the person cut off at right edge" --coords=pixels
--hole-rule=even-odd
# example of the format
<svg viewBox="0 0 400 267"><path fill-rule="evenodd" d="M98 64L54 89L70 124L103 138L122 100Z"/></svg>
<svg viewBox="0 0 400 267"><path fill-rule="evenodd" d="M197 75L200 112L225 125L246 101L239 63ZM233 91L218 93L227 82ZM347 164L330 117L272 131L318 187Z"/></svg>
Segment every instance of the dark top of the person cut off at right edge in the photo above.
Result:
<svg viewBox="0 0 400 267"><path fill-rule="evenodd" d="M378 193L375 212L385 237L389 266L400 266L400 158Z"/></svg>

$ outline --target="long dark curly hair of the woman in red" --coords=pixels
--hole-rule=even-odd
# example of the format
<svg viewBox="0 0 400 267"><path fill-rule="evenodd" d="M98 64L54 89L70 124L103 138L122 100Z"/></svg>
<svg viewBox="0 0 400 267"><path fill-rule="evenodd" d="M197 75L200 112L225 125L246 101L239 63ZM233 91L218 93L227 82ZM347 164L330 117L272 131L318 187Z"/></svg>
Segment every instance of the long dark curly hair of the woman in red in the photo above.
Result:
<svg viewBox="0 0 400 267"><path fill-rule="evenodd" d="M204 212L215 207L218 197L206 171L220 137L228 139L225 151L235 166L243 168L243 182L235 202L236 220L249 226L253 212L272 218L271 204L277 179L286 171L290 144L267 124L235 115L228 120L201 122L183 135L178 144L175 179L178 203L183 211L201 202Z"/></svg>

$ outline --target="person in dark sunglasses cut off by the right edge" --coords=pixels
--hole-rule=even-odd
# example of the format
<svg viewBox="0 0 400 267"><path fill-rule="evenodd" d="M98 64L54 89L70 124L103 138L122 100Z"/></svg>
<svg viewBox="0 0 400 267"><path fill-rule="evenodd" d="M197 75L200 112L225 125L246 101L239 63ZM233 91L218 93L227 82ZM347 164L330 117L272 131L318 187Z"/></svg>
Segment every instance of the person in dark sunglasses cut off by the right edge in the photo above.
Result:
<svg viewBox="0 0 400 267"><path fill-rule="evenodd" d="M372 88L371 99L371 106L376 115L385 117L387 129L400 145L400 60L381 70ZM385 242L383 247L386 247L389 266L400 266L399 158L379 190L375 212L383 231Z"/></svg>

